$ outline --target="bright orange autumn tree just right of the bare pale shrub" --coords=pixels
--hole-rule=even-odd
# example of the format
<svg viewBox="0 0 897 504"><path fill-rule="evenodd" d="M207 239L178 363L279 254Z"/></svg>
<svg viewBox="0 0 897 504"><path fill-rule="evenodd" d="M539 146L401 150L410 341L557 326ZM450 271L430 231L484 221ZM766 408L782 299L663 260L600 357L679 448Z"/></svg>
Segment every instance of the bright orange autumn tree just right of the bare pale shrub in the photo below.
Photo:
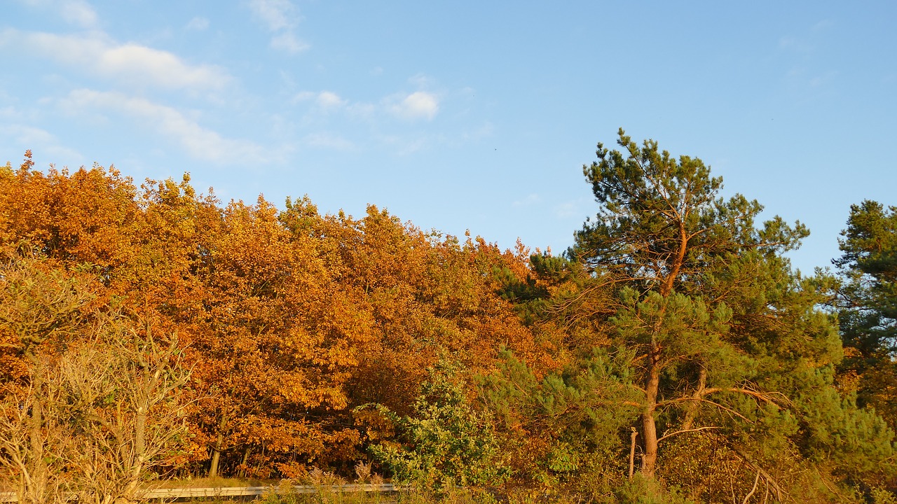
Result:
<svg viewBox="0 0 897 504"><path fill-rule="evenodd" d="M296 475L328 447L354 444L332 412L347 407L344 382L370 322L331 272L326 240L292 233L278 214L261 198L229 204L202 260L190 352L209 397L210 475L224 450L233 467L254 456L264 474Z"/></svg>

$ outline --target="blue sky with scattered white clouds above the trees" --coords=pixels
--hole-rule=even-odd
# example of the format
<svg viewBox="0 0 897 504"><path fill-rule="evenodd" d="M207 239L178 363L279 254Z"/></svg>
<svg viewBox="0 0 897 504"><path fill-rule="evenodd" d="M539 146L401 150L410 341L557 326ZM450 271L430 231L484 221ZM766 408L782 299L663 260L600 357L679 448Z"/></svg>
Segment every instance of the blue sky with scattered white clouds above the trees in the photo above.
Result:
<svg viewBox="0 0 897 504"><path fill-rule="evenodd" d="M623 126L805 222L897 204L897 3L4 0L0 162L567 248Z"/></svg>

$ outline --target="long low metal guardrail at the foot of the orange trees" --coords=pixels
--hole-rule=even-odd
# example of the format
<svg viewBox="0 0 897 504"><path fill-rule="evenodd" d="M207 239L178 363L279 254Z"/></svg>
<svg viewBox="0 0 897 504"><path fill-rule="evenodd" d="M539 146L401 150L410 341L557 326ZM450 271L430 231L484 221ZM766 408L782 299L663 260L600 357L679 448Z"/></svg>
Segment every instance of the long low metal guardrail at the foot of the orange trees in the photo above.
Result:
<svg viewBox="0 0 897 504"><path fill-rule="evenodd" d="M318 493L318 491L331 491L334 493L352 493L357 491L397 491L393 483L380 484L344 484L330 486L246 486L246 487L212 487L212 488L161 488L155 490L138 491L135 496L139 500L175 500L203 497L253 497L266 493L286 495L290 493ZM15 492L0 493L0 502L18 502Z"/></svg>

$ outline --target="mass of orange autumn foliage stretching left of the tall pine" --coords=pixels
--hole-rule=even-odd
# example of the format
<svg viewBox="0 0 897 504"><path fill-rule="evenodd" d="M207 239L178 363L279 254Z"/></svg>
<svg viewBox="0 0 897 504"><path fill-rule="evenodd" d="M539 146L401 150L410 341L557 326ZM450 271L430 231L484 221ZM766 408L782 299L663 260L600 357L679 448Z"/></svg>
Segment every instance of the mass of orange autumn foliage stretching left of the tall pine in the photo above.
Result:
<svg viewBox="0 0 897 504"><path fill-rule="evenodd" d="M138 189L114 168L43 173L30 158L0 167L0 189L5 254L34 248L60 270L86 269L98 302L178 332L194 464L217 451L231 474L352 466L363 447L351 410L405 413L440 357L475 373L508 347L556 366L553 345L498 294L497 268L527 278L522 245L461 243L374 206L357 220L320 215L308 198L222 208L187 176ZM10 337L0 331L0 344ZM4 352L0 378L21 376L21 355Z"/></svg>

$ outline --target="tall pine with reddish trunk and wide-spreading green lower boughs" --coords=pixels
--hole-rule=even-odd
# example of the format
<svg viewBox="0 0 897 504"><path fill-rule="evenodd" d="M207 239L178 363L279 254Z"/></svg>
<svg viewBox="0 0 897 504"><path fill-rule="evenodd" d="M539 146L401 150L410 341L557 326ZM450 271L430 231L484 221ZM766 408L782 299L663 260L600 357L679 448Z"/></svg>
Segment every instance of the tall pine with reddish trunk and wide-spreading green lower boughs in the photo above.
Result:
<svg viewBox="0 0 897 504"><path fill-rule="evenodd" d="M564 387L547 377L536 404L600 397L555 410L579 430L594 430L586 417L601 416L583 411L610 408L619 416L636 404L632 432L617 432L620 451L649 479L688 484L681 468L694 465L695 499L746 496L756 491L754 482L779 500L788 500L789 489L813 487L823 489L814 498L843 499L832 493L835 486L825 490L810 480L865 477L893 454L893 432L833 385L840 338L834 317L818 308L832 279L803 278L783 256L808 231L779 217L758 224L762 206L741 195L720 197L721 178L701 160L619 135L622 152L599 143L597 162L584 167L599 212L568 251L588 275L574 297L611 300L581 315L599 320L593 326L606 331L605 348L579 355L606 355L617 364L588 380L562 379ZM561 296L553 313L567 317L564 309L577 306L588 303ZM623 357L628 361L620 364ZM594 364L582 359L579 371L562 376L582 376ZM514 407L495 398L526 388L505 378L490 394ZM570 387L616 392L573 394ZM684 441L712 446L715 455L673 449ZM727 481L701 482L720 475Z"/></svg>

